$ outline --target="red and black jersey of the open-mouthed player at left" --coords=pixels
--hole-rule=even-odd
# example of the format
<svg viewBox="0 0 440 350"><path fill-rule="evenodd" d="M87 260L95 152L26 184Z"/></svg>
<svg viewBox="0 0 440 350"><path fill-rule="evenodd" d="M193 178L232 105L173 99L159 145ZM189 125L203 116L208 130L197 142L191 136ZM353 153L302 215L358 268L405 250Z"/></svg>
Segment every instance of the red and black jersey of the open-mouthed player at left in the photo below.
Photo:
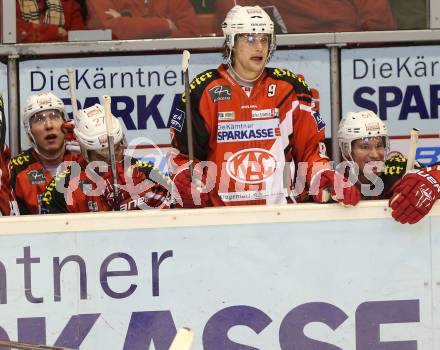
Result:
<svg viewBox="0 0 440 350"><path fill-rule="evenodd" d="M79 155L66 151L60 165L65 162L68 164L68 162L77 161L79 158ZM10 169L10 184L20 214L39 214L41 212L41 195L52 180L52 174L43 167L33 148L13 157Z"/></svg>

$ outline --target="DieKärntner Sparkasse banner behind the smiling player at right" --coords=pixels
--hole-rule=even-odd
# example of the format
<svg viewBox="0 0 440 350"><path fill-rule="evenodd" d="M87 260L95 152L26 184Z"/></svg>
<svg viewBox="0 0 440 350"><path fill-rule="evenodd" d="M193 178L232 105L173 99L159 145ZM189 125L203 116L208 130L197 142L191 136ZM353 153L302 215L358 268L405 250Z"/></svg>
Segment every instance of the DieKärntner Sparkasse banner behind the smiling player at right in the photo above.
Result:
<svg viewBox="0 0 440 350"><path fill-rule="evenodd" d="M343 113L370 109L386 122L392 149L408 153L412 128L421 130L417 159L440 161L440 47L342 50Z"/></svg>

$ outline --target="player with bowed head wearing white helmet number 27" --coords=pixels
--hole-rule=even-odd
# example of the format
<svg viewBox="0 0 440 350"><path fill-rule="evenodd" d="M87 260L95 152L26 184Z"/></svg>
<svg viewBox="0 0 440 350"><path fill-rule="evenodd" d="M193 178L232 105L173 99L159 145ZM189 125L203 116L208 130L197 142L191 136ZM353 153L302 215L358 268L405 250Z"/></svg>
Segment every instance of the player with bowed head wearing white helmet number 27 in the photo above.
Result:
<svg viewBox="0 0 440 350"><path fill-rule="evenodd" d="M115 191L110 166L104 108L101 105L80 110L74 118L74 134L83 159L56 176L42 198L42 212L69 213L110 210L167 208L171 180L150 163L124 156L121 125L113 118L116 178ZM117 207L118 206L118 207Z"/></svg>

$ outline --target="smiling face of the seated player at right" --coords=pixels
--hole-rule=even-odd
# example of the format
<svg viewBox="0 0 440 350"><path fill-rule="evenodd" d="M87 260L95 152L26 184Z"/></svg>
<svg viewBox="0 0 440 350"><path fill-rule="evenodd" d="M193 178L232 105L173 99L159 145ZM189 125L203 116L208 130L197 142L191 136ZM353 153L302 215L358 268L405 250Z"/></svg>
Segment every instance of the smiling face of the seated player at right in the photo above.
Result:
<svg viewBox="0 0 440 350"><path fill-rule="evenodd" d="M359 172L364 173L365 165L369 162L385 161L385 138L384 137L365 137L353 141L351 145L353 160L359 166ZM377 173L377 169L372 169Z"/></svg>

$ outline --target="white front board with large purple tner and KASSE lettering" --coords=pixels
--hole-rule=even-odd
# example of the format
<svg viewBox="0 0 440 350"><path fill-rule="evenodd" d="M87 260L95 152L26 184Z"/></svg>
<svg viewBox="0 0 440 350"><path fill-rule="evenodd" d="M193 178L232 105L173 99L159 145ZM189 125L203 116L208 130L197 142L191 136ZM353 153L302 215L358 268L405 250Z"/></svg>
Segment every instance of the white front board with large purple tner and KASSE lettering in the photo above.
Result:
<svg viewBox="0 0 440 350"><path fill-rule="evenodd" d="M438 349L437 219L4 235L0 336L168 350L187 326L194 350Z"/></svg>

